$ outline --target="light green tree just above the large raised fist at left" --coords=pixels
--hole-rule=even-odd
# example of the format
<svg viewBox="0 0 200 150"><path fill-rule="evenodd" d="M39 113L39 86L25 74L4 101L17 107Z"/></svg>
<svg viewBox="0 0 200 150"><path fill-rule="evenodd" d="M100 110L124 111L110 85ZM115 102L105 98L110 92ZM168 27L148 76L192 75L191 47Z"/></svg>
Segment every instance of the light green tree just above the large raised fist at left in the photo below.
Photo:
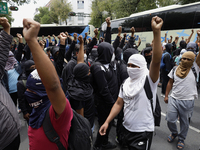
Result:
<svg viewBox="0 0 200 150"><path fill-rule="evenodd" d="M40 13L34 16L35 21L41 24L58 23L58 16L48 7L40 7L38 11Z"/></svg>

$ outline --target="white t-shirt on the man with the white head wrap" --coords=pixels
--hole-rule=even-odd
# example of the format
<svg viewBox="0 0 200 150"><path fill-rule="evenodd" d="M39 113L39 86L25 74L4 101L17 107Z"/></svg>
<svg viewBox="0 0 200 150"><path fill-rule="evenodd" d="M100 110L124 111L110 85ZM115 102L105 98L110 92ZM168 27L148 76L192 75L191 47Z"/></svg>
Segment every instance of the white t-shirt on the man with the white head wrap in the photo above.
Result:
<svg viewBox="0 0 200 150"><path fill-rule="evenodd" d="M148 79L153 94L153 108L155 110L157 85L159 80L153 83L149 75ZM120 88L119 97L124 101L123 125L127 130L131 132L154 131L154 118L151 110L151 102L147 98L144 88L131 100L123 98L123 92Z"/></svg>

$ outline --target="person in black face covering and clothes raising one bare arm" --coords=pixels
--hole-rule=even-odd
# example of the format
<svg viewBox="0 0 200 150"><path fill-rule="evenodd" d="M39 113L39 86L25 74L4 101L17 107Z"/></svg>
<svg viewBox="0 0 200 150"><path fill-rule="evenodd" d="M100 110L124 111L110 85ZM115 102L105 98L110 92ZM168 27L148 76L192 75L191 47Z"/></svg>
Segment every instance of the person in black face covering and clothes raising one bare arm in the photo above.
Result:
<svg viewBox="0 0 200 150"><path fill-rule="evenodd" d="M93 88L90 84L90 68L84 63L83 38L79 36L80 50L77 54L77 65L73 69L73 74L67 82L67 92L71 107L80 115L87 118L91 128L94 124L94 99Z"/></svg>

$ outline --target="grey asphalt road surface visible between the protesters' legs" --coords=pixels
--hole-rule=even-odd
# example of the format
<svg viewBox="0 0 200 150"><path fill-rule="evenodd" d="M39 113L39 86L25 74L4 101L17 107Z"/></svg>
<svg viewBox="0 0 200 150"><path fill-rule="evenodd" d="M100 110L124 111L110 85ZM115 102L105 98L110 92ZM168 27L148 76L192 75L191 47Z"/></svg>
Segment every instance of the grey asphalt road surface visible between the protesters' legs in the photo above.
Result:
<svg viewBox="0 0 200 150"><path fill-rule="evenodd" d="M158 96L160 100L160 105L162 109L162 120L161 126L156 127L153 142L151 146L151 150L176 150L177 139L174 140L173 143L167 142L167 136L170 134L170 131L167 127L167 122L165 120L166 112L167 112L167 104L164 103L164 98L160 96L161 88L158 88ZM21 144L20 150L28 150L28 137L27 137L27 123L24 121L22 117L22 113L19 114L21 120ZM179 127L179 123L177 122ZM110 132L109 140L113 143L115 142L116 137L116 128L113 126ZM95 130L94 130L94 140L96 138L96 134L98 132L98 124L95 121ZM117 143L116 143L117 144ZM190 123L190 128L188 131L187 138L185 140L185 148L184 150L199 150L200 147L200 94L198 100L195 101L195 107L193 111L193 116ZM83 148L84 150L84 148ZM128 150L127 148L122 148L117 144L117 148L113 150Z"/></svg>

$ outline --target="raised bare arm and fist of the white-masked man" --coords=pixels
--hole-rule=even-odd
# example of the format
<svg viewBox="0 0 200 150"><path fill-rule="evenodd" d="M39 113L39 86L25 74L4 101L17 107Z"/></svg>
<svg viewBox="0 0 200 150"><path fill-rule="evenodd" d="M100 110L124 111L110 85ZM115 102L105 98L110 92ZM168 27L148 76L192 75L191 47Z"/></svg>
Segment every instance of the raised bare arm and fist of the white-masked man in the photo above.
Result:
<svg viewBox="0 0 200 150"><path fill-rule="evenodd" d="M160 61L162 57L162 47L161 47L161 27L163 25L163 20L157 16L153 17L151 20L151 28L153 30L153 53L152 61L150 64L149 74L152 81L155 83L159 78L160 71Z"/></svg>

